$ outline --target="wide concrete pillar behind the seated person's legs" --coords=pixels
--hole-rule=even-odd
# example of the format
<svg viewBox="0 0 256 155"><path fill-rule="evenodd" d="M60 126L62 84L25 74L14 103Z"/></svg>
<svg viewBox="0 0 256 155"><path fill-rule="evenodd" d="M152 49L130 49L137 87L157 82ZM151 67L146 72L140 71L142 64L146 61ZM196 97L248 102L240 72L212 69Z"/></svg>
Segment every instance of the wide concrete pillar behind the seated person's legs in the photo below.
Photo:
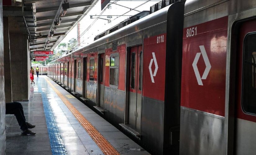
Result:
<svg viewBox="0 0 256 155"><path fill-rule="evenodd" d="M12 100L28 101L30 61L27 35L10 32L9 38L11 51Z"/></svg>

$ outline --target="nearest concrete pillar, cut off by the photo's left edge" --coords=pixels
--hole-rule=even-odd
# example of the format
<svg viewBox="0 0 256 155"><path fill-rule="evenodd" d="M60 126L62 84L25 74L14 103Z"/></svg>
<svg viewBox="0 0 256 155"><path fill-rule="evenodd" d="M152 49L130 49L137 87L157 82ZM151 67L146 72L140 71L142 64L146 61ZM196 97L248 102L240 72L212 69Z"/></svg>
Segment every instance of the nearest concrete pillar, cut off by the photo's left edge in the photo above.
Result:
<svg viewBox="0 0 256 155"><path fill-rule="evenodd" d="M5 94L4 94L4 47L2 0L0 0L0 154L5 154Z"/></svg>

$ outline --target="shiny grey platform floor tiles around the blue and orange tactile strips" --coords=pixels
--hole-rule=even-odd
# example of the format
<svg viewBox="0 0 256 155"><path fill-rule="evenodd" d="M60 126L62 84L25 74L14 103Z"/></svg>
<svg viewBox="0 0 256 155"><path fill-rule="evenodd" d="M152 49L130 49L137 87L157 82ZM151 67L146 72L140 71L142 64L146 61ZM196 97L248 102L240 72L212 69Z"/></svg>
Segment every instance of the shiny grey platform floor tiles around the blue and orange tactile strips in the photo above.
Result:
<svg viewBox="0 0 256 155"><path fill-rule="evenodd" d="M103 154L44 77L47 78L46 76L35 77L36 83L31 85L33 87L30 89L29 102L21 102L27 121L36 124L36 127L32 129L36 135L20 135L20 127L15 116L6 115L7 155L52 154L40 88L52 109L67 153ZM149 154L78 99L70 98L70 93L62 87L55 86L55 82L47 79L120 154Z"/></svg>

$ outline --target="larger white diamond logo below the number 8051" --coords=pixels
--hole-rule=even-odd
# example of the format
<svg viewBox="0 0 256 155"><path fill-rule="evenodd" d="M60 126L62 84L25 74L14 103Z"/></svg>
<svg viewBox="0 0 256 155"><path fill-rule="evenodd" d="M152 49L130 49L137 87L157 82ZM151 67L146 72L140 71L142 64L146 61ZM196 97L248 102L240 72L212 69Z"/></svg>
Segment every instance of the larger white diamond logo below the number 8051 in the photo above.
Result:
<svg viewBox="0 0 256 155"><path fill-rule="evenodd" d="M195 59L194 59L194 61L193 61L192 66L193 66L193 69L194 69L194 72L195 72L195 77L196 77L196 80L197 80L198 85L203 86L202 79L205 80L205 79L207 78L207 76L208 76L208 74L209 74L210 69L211 69L212 66L211 66L211 64L210 64L210 61L209 61L209 59L208 59L208 56L207 56L207 54L206 54L206 51L205 51L204 46L201 45L201 46L199 46L199 48L200 48L200 51L201 51L201 52L200 52L200 53L196 53ZM202 78L200 77L200 74L199 74L199 71L198 71L198 68L197 68L197 62L198 62L198 60L199 60L201 54L202 54L202 56L203 56L204 64L205 64L205 66L206 66Z"/></svg>

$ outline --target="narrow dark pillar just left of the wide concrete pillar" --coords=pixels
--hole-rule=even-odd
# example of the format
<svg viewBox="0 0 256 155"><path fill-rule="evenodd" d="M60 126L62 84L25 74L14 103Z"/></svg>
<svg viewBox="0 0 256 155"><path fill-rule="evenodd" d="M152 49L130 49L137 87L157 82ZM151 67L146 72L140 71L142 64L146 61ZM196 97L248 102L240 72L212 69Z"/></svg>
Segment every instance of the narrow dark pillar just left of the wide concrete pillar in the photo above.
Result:
<svg viewBox="0 0 256 155"><path fill-rule="evenodd" d="M8 17L3 17L3 37L4 37L4 91L5 101L12 102L11 91L11 59L10 59L10 44L9 44L9 28Z"/></svg>

